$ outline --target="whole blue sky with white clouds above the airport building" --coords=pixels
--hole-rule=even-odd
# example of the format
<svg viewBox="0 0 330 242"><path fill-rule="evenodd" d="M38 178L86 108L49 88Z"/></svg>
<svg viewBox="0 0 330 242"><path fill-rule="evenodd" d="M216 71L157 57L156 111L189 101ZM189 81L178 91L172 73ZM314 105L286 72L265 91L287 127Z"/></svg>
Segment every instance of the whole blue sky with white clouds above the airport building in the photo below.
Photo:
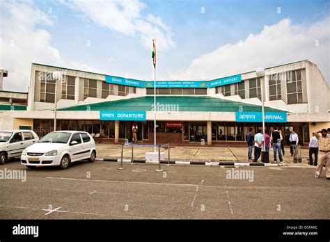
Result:
<svg viewBox="0 0 330 242"><path fill-rule="evenodd" d="M211 80L308 59L330 86L330 0L0 1L4 90L31 63L131 79Z"/></svg>

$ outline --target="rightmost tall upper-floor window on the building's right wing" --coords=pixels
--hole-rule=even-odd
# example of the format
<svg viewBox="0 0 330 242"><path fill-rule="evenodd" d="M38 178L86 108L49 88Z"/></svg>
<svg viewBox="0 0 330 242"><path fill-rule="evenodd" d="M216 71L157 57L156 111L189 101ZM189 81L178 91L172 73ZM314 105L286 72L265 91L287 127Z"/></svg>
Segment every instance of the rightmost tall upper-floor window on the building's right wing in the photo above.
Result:
<svg viewBox="0 0 330 242"><path fill-rule="evenodd" d="M301 81L301 70L295 70L287 75L287 93L288 93L288 104L302 104L302 81Z"/></svg>

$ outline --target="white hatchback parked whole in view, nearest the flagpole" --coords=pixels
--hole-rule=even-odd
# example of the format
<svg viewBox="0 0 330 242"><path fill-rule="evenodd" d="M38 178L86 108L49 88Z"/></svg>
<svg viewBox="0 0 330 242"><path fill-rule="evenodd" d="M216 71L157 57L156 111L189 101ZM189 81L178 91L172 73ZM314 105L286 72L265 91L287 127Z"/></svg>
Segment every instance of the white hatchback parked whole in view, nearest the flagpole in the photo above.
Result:
<svg viewBox="0 0 330 242"><path fill-rule="evenodd" d="M21 163L28 168L59 166L66 169L70 163L88 159L95 161L95 141L84 131L54 131L22 152Z"/></svg>

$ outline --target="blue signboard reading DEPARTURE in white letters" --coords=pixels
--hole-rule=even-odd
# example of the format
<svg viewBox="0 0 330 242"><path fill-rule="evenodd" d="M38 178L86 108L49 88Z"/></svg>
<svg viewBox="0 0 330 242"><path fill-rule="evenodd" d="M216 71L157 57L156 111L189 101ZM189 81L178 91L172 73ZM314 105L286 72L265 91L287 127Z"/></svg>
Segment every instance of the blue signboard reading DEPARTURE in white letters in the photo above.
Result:
<svg viewBox="0 0 330 242"><path fill-rule="evenodd" d="M146 121L146 111L100 111L100 120Z"/></svg>

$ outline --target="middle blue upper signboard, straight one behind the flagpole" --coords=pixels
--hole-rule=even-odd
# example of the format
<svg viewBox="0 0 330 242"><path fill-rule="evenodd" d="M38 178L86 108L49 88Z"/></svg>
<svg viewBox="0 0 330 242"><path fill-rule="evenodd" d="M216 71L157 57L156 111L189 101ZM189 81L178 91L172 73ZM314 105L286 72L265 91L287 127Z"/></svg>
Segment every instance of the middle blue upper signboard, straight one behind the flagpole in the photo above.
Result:
<svg viewBox="0 0 330 242"><path fill-rule="evenodd" d="M153 87L153 81L146 81L146 88ZM207 88L207 81L156 81L156 88Z"/></svg>

